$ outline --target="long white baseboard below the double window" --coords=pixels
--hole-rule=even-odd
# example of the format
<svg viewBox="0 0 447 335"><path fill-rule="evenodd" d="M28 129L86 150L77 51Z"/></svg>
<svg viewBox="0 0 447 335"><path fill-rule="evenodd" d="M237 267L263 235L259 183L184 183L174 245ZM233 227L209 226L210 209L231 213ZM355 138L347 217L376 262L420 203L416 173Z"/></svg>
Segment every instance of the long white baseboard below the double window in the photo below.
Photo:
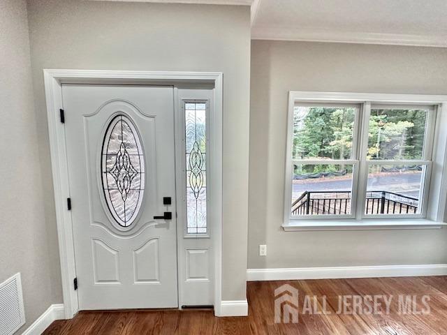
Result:
<svg viewBox="0 0 447 335"><path fill-rule="evenodd" d="M447 264L381 265L371 267L298 267L247 269L247 281L288 281L298 279L446 276Z"/></svg>

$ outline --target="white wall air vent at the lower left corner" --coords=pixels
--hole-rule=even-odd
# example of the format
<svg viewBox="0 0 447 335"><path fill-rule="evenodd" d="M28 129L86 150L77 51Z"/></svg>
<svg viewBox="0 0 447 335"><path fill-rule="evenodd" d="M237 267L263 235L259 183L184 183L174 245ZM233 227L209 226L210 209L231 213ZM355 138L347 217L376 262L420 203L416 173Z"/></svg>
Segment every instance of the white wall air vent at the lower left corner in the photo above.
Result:
<svg viewBox="0 0 447 335"><path fill-rule="evenodd" d="M0 335L12 335L25 323L20 274L0 284Z"/></svg>

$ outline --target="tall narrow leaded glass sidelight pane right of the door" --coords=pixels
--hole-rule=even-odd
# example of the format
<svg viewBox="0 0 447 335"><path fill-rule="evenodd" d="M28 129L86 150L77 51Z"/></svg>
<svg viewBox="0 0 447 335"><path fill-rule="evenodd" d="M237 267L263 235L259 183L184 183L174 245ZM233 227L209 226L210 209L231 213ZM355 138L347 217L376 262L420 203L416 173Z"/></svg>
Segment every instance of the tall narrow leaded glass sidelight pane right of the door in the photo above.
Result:
<svg viewBox="0 0 447 335"><path fill-rule="evenodd" d="M185 103L186 232L207 232L206 103Z"/></svg>

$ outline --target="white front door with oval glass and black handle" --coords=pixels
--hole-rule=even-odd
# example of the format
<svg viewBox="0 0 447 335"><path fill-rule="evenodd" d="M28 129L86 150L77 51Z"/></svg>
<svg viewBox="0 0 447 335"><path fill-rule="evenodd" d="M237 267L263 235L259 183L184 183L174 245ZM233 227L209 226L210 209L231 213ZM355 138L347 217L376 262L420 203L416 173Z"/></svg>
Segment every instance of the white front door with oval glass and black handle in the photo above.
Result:
<svg viewBox="0 0 447 335"><path fill-rule="evenodd" d="M80 310L177 307L173 87L62 96Z"/></svg>

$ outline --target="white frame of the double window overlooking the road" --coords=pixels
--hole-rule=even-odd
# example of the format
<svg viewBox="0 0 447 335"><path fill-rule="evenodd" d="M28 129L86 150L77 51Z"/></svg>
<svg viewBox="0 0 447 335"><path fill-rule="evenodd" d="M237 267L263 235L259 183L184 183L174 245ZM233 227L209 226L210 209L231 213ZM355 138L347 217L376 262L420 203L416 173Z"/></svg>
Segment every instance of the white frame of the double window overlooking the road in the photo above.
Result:
<svg viewBox="0 0 447 335"><path fill-rule="evenodd" d="M356 114L356 126L353 134L353 154L348 160L302 160L293 161L293 113L295 105L360 105ZM377 106L379 105L379 106ZM370 160L367 161L369 114L372 106L376 107L421 107L430 106L425 132L423 159L421 160ZM433 106L433 107L432 107ZM305 92L290 91L288 103L288 126L286 144L286 174L284 187L284 230L319 230L329 228L371 229L377 227L439 228L444 223L446 210L446 166L444 164L447 142L447 127L436 126L447 124L447 96L415 95L415 94L362 94L337 92ZM361 131L359 132L358 130ZM359 134L360 133L360 134ZM353 188L351 214L291 215L293 163L346 163L357 166L353 172ZM377 163L427 165L425 183L421 189L423 195L421 209L418 214L365 214L365 198L367 188L367 170L369 165ZM430 199L430 202L429 202ZM337 218L337 220L334 220ZM392 218L393 220L390 220Z"/></svg>

